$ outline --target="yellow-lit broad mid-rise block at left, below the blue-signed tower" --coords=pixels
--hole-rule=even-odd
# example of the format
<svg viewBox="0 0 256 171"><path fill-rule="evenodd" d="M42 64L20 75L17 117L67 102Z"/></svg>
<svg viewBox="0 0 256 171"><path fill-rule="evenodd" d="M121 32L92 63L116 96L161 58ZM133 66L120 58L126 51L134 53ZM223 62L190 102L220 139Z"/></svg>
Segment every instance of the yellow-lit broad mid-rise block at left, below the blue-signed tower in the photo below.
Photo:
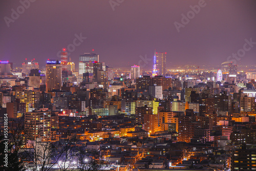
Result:
<svg viewBox="0 0 256 171"><path fill-rule="evenodd" d="M20 99L22 103L26 103L26 112L29 111L29 108L39 108L39 91L16 91L15 98Z"/></svg>

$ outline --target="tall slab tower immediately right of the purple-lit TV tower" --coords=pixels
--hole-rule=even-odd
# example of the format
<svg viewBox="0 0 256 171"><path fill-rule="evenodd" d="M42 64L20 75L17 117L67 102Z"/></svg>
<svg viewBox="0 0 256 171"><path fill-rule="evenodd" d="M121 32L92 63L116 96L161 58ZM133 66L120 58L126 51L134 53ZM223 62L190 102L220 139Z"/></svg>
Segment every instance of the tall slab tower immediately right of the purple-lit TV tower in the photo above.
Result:
<svg viewBox="0 0 256 171"><path fill-rule="evenodd" d="M157 75L165 77L166 73L166 52L156 52L156 70Z"/></svg>

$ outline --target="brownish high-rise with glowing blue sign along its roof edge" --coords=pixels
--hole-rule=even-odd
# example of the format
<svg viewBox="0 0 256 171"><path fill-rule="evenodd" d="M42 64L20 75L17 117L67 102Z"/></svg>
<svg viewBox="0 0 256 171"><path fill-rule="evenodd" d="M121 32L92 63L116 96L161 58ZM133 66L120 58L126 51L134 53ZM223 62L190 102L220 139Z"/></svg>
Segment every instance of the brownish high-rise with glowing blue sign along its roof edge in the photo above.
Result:
<svg viewBox="0 0 256 171"><path fill-rule="evenodd" d="M62 65L59 60L48 60L46 64L46 91L60 90L62 86Z"/></svg>

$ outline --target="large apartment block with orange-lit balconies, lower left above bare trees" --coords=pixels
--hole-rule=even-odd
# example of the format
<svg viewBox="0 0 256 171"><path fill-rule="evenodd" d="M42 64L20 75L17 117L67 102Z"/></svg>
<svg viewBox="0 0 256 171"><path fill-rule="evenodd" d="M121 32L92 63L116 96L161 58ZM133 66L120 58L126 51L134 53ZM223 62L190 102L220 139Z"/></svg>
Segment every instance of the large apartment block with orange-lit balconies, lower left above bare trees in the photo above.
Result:
<svg viewBox="0 0 256 171"><path fill-rule="evenodd" d="M25 129L33 136L47 137L51 132L51 111L33 111L25 113Z"/></svg>

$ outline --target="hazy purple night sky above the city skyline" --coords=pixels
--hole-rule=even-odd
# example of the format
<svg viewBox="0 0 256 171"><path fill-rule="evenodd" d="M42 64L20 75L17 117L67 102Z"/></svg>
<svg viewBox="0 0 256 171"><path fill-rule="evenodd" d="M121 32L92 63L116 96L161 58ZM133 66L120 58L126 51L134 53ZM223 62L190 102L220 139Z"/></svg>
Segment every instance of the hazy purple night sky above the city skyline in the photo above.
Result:
<svg viewBox="0 0 256 171"><path fill-rule="evenodd" d="M112 67L138 65L140 55L151 58L155 49L167 52L168 65L220 65L243 48L245 38L256 42L255 0L205 0L205 7L178 32L174 22L181 23L181 14L199 2L124 0L113 11L109 0L35 1L8 27L4 17L11 18L11 9L21 4L1 1L0 60L21 66L25 58L35 58L45 66L80 33L87 39L69 55L76 66L79 55L92 49ZM255 57L253 45L237 63L254 65ZM144 64L152 68L152 61Z"/></svg>

